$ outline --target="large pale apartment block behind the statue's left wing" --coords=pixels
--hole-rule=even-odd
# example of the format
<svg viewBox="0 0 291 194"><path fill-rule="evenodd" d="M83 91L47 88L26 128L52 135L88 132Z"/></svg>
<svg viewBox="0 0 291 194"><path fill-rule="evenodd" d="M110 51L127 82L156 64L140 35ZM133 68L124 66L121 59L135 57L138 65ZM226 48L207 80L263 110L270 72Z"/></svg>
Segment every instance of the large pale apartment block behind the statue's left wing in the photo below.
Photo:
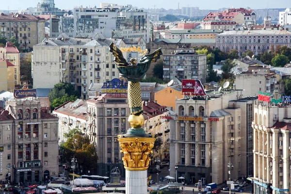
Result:
<svg viewBox="0 0 291 194"><path fill-rule="evenodd" d="M101 34L102 35L102 34ZM32 76L34 88L53 88L69 82L88 99L91 83L103 83L119 77L109 45L126 47L121 39L46 39L33 47ZM46 53L46 54L45 54Z"/></svg>

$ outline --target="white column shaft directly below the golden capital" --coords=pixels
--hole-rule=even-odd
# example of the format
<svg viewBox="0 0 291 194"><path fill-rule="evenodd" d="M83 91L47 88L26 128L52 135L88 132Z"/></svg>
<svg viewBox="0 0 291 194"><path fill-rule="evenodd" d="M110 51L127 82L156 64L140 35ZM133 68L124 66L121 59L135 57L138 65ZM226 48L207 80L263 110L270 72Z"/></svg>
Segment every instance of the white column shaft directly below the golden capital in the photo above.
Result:
<svg viewBox="0 0 291 194"><path fill-rule="evenodd" d="M147 194L147 170L125 171L126 194Z"/></svg>

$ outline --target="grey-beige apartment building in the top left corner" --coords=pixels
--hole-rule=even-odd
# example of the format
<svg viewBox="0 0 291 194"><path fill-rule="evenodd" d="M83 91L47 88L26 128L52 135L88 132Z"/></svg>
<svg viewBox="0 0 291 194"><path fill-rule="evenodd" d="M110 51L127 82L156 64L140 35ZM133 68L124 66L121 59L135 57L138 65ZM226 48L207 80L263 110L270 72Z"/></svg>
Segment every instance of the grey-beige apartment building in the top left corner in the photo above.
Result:
<svg viewBox="0 0 291 194"><path fill-rule="evenodd" d="M20 47L32 50L32 46L45 38L45 19L27 14L0 14L1 37L16 37Z"/></svg>

